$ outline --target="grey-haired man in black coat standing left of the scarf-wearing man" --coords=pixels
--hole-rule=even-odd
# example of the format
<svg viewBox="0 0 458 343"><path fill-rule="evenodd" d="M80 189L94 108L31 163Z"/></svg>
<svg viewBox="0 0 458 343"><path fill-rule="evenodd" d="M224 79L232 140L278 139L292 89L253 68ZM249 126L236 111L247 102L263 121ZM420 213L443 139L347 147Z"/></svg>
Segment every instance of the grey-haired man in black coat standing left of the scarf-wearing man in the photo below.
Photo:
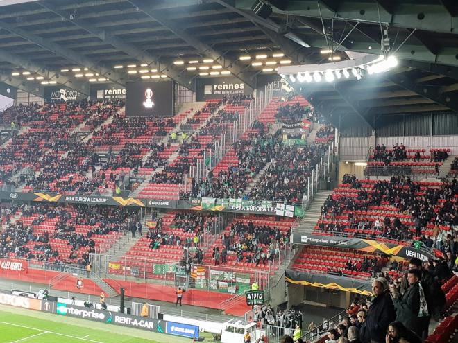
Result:
<svg viewBox="0 0 458 343"><path fill-rule="evenodd" d="M385 342L388 325L396 318L393 301L386 292L387 289L387 280L382 277L375 279L372 283L375 298L361 326L360 338L364 343Z"/></svg>

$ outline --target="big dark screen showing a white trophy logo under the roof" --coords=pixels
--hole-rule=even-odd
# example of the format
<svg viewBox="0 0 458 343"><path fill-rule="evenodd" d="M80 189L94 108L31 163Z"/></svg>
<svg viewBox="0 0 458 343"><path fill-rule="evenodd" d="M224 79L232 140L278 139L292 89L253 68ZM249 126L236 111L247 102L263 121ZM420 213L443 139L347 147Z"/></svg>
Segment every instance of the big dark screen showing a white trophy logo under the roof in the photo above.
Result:
<svg viewBox="0 0 458 343"><path fill-rule="evenodd" d="M126 116L173 116L173 82L128 82Z"/></svg>

